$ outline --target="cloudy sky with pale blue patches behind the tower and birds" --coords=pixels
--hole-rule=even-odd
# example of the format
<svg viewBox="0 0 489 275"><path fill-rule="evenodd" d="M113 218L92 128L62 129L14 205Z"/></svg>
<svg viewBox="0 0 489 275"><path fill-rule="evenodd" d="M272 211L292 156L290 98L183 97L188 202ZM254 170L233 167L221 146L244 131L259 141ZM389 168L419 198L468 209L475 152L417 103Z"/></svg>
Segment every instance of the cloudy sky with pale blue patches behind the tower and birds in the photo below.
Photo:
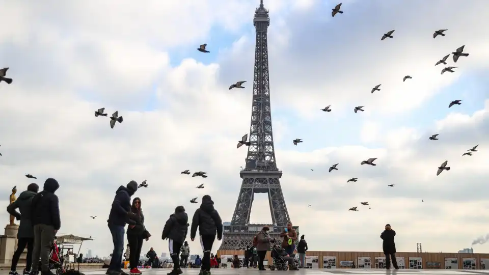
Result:
<svg viewBox="0 0 489 275"><path fill-rule="evenodd" d="M332 18L336 4L264 1L276 159L293 224L311 251L380 251L387 223L399 252L417 242L427 252L470 248L489 233L489 2L345 0ZM134 195L152 234L143 252L168 253L162 228L178 205L192 217L194 197L210 195L230 221L247 154L236 143L250 128L258 5L4 3L0 67L13 83L0 83L0 201L7 206L14 185L20 193L33 182L25 174L41 186L56 178L60 233L92 236L82 251L99 256L112 251L106 219L130 180L149 185ZM446 36L433 39L439 29ZM381 41L390 30L394 38ZM210 53L196 50L204 43ZM461 45L470 55L450 57L457 68L441 75L434 64ZM241 80L245 89L228 90ZM355 114L358 105L365 112ZM111 129L94 117L100 107L123 123ZM304 142L294 146L297 138ZM360 165L370 157L377 166ZM451 170L436 176L445 160ZM186 169L208 178L181 175ZM358 182L346 183L352 177ZM8 223L6 211L0 219ZM251 222L271 222L266 195L255 197ZM489 244L473 248L489 253Z"/></svg>

